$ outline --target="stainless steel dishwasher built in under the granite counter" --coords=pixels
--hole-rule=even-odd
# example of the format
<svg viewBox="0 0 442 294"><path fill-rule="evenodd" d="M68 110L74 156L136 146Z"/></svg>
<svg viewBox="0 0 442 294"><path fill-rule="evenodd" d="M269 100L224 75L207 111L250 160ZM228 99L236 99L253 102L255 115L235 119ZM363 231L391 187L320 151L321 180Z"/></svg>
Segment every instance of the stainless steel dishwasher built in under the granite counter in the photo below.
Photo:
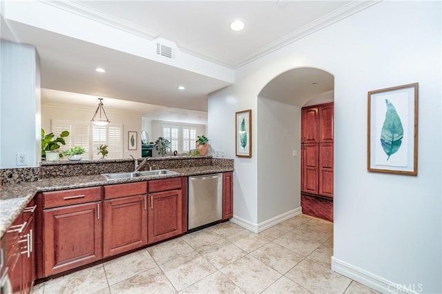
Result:
<svg viewBox="0 0 442 294"><path fill-rule="evenodd" d="M187 229L222 218L222 173L189 177Z"/></svg>

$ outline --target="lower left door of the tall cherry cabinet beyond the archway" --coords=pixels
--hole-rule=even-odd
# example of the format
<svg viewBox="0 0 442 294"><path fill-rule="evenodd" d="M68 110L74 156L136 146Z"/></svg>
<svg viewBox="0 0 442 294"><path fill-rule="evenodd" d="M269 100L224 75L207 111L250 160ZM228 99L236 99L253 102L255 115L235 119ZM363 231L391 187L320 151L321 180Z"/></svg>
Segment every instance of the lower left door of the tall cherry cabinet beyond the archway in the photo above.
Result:
<svg viewBox="0 0 442 294"><path fill-rule="evenodd" d="M301 190L318 194L318 144L304 144L302 148Z"/></svg>

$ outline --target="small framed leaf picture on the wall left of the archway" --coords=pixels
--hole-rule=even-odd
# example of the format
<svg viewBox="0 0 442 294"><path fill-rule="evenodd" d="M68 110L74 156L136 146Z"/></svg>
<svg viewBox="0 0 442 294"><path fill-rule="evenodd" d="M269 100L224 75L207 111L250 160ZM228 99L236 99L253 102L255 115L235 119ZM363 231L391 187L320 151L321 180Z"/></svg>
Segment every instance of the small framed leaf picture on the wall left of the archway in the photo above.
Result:
<svg viewBox="0 0 442 294"><path fill-rule="evenodd" d="M235 146L237 157L251 157L251 109L236 112Z"/></svg>

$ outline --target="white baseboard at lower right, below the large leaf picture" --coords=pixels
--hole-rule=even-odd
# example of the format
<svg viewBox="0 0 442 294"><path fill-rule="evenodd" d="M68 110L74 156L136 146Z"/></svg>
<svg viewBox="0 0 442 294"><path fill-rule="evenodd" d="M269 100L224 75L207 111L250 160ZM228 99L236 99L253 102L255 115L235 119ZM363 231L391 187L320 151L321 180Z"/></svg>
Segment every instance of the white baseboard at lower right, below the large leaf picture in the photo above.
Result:
<svg viewBox="0 0 442 294"><path fill-rule="evenodd" d="M364 271L361 268L352 266L352 264L343 262L334 256L332 256L332 271L336 271L336 273L340 273L345 277L349 277L350 279L373 288L381 293L416 294L423 290L421 288L422 285L399 285L389 280L385 280L383 277L379 277L378 275Z"/></svg>

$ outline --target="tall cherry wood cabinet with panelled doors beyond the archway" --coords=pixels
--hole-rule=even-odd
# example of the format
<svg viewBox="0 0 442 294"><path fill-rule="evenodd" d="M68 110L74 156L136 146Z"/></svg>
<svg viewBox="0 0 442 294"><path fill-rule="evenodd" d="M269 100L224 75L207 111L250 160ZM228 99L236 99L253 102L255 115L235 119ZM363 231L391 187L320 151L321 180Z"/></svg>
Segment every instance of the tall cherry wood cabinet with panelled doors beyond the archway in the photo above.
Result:
<svg viewBox="0 0 442 294"><path fill-rule="evenodd" d="M301 110L301 193L333 198L333 103Z"/></svg>

